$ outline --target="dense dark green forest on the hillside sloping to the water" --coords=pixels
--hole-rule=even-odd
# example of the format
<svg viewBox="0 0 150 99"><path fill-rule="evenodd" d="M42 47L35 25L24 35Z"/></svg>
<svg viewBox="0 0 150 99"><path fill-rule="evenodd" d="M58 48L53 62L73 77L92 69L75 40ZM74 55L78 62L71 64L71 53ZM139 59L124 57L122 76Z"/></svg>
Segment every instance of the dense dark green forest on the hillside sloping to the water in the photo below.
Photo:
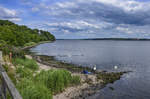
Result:
<svg viewBox="0 0 150 99"><path fill-rule="evenodd" d="M25 25L17 25L8 20L0 20L0 43L13 46L24 46L27 43L54 41L55 37L48 31L31 29Z"/></svg>

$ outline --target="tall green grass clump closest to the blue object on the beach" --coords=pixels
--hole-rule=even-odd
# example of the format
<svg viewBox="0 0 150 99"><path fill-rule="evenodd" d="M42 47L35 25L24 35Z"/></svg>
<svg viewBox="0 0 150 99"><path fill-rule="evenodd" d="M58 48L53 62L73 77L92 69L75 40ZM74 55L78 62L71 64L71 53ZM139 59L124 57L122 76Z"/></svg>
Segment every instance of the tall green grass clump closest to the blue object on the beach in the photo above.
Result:
<svg viewBox="0 0 150 99"><path fill-rule="evenodd" d="M35 77L36 81L38 81L39 83L43 83L47 88L49 88L53 92L53 94L62 92L64 88L72 85L72 82L73 84L79 84L79 79L80 78L78 78L77 76L72 77L71 73L67 70L41 71ZM74 83L74 81L76 83Z"/></svg>

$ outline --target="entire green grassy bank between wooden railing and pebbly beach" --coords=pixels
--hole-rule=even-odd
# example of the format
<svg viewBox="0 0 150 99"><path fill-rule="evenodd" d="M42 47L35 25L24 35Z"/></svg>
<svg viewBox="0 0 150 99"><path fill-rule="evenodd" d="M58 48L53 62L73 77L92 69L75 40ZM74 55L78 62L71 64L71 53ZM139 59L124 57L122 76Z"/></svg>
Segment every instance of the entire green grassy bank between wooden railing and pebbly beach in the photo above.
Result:
<svg viewBox="0 0 150 99"><path fill-rule="evenodd" d="M4 65L4 68L23 99L52 99L65 88L80 84L80 77L72 76L67 70L39 71L33 59L15 58L12 63L13 68L9 65Z"/></svg>

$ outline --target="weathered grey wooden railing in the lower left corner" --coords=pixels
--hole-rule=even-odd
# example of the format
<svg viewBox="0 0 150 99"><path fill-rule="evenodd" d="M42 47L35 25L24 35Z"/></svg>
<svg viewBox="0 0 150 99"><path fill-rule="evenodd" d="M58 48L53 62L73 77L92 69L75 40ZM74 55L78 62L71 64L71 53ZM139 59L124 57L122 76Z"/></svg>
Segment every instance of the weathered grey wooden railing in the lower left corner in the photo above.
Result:
<svg viewBox="0 0 150 99"><path fill-rule="evenodd" d="M22 99L21 95L19 94L14 84L8 77L6 71L2 67L2 52L0 52L0 78L0 99L7 99L8 93L12 99Z"/></svg>

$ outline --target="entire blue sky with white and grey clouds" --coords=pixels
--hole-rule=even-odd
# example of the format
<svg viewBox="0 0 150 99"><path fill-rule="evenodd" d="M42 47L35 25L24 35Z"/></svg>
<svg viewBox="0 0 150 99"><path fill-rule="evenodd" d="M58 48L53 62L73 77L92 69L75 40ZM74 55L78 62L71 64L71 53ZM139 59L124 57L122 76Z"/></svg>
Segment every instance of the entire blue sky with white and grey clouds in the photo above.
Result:
<svg viewBox="0 0 150 99"><path fill-rule="evenodd" d="M0 19L57 39L150 38L150 0L0 0Z"/></svg>

